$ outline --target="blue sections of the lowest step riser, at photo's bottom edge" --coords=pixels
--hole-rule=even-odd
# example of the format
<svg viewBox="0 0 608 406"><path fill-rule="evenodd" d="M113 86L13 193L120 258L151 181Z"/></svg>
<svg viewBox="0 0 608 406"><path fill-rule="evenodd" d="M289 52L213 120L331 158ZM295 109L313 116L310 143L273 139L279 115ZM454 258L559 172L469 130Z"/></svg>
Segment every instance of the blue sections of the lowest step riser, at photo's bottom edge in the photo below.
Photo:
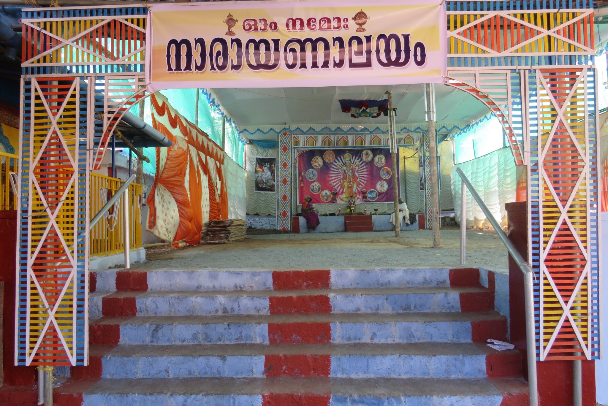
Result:
<svg viewBox="0 0 608 406"><path fill-rule="evenodd" d="M500 406L502 396L331 396L330 406ZM262 406L261 395L85 394L83 406Z"/></svg>

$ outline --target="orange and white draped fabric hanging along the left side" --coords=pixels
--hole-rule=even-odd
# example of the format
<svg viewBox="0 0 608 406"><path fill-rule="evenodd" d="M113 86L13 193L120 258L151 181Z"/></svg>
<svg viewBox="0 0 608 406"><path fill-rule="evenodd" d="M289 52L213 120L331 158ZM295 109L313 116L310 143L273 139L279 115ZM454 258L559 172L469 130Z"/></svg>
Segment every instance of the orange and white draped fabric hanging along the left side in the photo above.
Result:
<svg viewBox="0 0 608 406"><path fill-rule="evenodd" d="M174 111L162 95L151 95L151 105L154 128L173 145L167 148L166 158L162 156L161 148L156 150L156 176L147 200L150 207L148 229L153 231L157 221L168 218L157 212L155 202L157 188L162 185L178 208L179 225L172 241L185 239L187 244L196 245L201 241L204 222L207 221L202 202L209 201L209 220L228 218L227 189L222 170L225 153L205 132ZM208 199L203 196L205 177Z"/></svg>

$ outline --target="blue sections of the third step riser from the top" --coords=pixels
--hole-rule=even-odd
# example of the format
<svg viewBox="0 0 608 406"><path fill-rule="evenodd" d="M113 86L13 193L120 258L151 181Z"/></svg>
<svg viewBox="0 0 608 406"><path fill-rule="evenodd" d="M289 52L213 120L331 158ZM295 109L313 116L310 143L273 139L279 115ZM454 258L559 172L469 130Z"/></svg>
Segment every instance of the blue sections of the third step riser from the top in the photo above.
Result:
<svg viewBox="0 0 608 406"><path fill-rule="evenodd" d="M470 322L331 323L333 343L471 342ZM268 325L122 325L120 344L268 344Z"/></svg>

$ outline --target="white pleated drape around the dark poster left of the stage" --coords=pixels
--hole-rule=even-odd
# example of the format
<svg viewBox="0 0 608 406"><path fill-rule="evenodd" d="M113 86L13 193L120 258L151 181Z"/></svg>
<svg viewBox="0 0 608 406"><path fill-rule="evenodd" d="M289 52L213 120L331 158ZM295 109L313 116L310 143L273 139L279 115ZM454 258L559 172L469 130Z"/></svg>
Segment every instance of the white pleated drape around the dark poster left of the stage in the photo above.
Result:
<svg viewBox="0 0 608 406"><path fill-rule="evenodd" d="M277 148L264 150L254 144L245 145L247 156L247 214L277 215L277 193L255 192L255 157L276 157Z"/></svg>

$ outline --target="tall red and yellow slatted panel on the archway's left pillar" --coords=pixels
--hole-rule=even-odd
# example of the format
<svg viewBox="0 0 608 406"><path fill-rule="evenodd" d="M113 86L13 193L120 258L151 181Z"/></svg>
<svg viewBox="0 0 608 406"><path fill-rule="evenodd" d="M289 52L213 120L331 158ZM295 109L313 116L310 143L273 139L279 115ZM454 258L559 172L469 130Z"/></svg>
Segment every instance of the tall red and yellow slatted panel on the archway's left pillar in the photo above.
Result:
<svg viewBox="0 0 608 406"><path fill-rule="evenodd" d="M78 194L81 169L86 169L80 162L86 155L78 124L80 79L33 78L31 83L24 100L30 126L27 138L24 129L29 155L22 165L27 182L22 198L29 206L19 212L26 227L20 237L25 264L19 266L18 362L74 365L84 362L86 335L85 300L78 297L85 287L82 272L78 275L81 244L73 248L83 228L81 210L75 208L82 204Z"/></svg>

